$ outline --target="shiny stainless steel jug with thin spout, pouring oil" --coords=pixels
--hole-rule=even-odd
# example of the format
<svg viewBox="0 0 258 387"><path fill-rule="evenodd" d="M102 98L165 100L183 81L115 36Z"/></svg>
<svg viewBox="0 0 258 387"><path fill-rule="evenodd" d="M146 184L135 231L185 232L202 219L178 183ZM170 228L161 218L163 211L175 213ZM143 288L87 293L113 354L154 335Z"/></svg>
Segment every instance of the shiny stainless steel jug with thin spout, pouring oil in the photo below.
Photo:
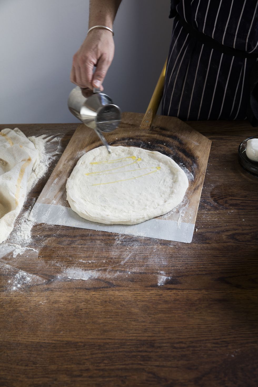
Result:
<svg viewBox="0 0 258 387"><path fill-rule="evenodd" d="M95 130L108 151L111 149L101 132L112 132L121 121L121 110L112 99L99 89L81 89L76 86L69 94L70 112L85 125Z"/></svg>

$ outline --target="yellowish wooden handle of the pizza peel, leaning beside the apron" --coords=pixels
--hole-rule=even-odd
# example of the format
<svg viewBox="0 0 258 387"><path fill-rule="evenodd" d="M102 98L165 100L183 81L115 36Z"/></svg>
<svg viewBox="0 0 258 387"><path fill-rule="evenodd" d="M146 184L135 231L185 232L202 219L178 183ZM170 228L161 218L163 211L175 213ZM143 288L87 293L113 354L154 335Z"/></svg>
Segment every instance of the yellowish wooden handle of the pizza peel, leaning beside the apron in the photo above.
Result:
<svg viewBox="0 0 258 387"><path fill-rule="evenodd" d="M147 111L140 125L140 129L150 129L152 120L157 113L159 104L161 102L163 89L164 89L166 66L167 66L167 60L162 68L161 75L159 76L159 80L157 81L155 90L150 99L150 103L149 103L149 106L147 107Z"/></svg>

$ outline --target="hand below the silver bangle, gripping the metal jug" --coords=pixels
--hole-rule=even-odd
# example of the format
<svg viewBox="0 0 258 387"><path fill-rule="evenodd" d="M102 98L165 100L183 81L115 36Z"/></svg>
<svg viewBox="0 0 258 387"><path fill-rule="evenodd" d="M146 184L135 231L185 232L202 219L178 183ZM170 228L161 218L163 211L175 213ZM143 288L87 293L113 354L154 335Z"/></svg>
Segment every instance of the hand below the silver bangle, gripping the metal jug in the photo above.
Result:
<svg viewBox="0 0 258 387"><path fill-rule="evenodd" d="M70 74L71 82L80 87L99 87L114 57L113 35L106 29L94 29L89 32L77 53L73 55ZM93 67L96 70L93 73Z"/></svg>

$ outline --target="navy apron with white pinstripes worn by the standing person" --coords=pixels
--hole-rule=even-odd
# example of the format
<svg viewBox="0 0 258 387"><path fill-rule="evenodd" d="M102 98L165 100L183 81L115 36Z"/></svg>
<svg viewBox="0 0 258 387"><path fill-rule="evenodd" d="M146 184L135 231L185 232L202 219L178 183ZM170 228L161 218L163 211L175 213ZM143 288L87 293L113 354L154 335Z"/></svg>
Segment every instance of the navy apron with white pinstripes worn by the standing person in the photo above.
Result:
<svg viewBox="0 0 258 387"><path fill-rule="evenodd" d="M258 1L171 1L170 17L175 19L162 114L181 120L245 119L256 58L233 57L196 41L179 16L223 45L258 53Z"/></svg>

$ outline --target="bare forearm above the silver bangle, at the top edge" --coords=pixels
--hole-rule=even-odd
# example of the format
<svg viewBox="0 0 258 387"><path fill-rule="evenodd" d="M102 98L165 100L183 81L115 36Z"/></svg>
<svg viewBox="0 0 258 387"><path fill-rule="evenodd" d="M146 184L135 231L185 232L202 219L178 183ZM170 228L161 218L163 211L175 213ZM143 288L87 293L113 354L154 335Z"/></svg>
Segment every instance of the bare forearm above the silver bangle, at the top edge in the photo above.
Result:
<svg viewBox="0 0 258 387"><path fill-rule="evenodd" d="M89 28L93 26L113 28L120 3L121 0L90 0Z"/></svg>

